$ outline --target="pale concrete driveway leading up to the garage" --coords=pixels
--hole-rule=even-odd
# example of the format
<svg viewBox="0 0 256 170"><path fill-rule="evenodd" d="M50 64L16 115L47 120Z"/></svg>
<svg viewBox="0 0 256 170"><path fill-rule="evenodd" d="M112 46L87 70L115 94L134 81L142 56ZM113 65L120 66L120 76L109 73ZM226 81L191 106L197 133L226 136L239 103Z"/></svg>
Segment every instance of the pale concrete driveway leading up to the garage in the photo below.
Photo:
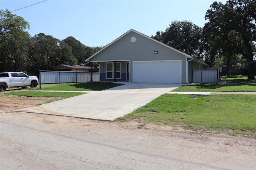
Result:
<svg viewBox="0 0 256 170"><path fill-rule="evenodd" d="M16 111L112 121L182 84L130 83Z"/></svg>

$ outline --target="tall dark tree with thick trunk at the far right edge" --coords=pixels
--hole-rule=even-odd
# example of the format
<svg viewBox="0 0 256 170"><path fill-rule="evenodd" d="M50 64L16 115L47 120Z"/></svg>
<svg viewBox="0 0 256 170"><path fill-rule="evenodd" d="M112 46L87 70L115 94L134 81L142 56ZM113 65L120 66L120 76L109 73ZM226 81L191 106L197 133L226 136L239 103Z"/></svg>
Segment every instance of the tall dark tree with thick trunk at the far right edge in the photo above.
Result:
<svg viewBox="0 0 256 170"><path fill-rule="evenodd" d="M219 37L223 36L220 39L225 40L226 47L222 48L222 53L232 53L227 54L231 57L236 56L233 52L237 52L247 59L248 80L253 80L255 78L253 53L256 41L256 0L228 0L226 4L214 2L210 7L205 16L205 19L209 20L206 23L208 31L212 32L212 37L216 35L214 32ZM232 37L232 40L229 37ZM213 41L219 42L216 38ZM232 48L228 47L230 44L233 45Z"/></svg>

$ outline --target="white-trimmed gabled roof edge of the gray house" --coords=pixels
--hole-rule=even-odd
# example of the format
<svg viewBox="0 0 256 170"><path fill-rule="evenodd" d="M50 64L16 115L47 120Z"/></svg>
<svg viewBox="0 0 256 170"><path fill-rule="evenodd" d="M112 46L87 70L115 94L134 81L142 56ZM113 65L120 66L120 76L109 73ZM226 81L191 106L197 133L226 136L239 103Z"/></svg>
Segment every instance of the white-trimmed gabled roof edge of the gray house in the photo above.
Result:
<svg viewBox="0 0 256 170"><path fill-rule="evenodd" d="M206 65L206 66L209 66L208 64L206 64L206 63L204 63L204 62L202 62L202 61L200 61L200 60L198 60L198 59L196 59L196 58L194 58L194 57L192 57L192 56L190 56L190 55L188 55L188 54L186 54L186 53L183 53L183 52L180 51L180 50L177 50L177 49L175 49L175 48L173 48L173 47L170 47L169 45L166 45L166 44L164 44L164 43L161 43L160 41L157 41L156 39L153 39L153 38L151 38L151 37L148 37L147 35L144 35L144 34L138 32L138 31L135 31L134 29L130 29L129 31L127 31L126 33L124 33L123 35L121 35L120 37L118 37L117 39L115 39L114 41L112 41L111 43L109 43L108 45L106 45L106 46L105 46L104 48L102 48L100 51L98 51L97 53L95 53L94 55L92 55L91 57L89 57L88 59L86 59L85 61L89 61L92 57L94 57L94 56L96 56L97 54L101 53L101 52L104 51L106 48L108 48L110 45L112 45L113 43L115 43L116 41L118 41L119 39L121 39L122 37L124 37L125 35L127 35L127 34L130 33L130 32L134 32L134 33L137 33L137 34L139 34L139 35L142 35L143 37L146 37L146 38L150 39L151 41L155 41L156 43L159 43L159 44L161 44L161 45L164 45L165 47L168 47L169 49L172 49L172 50L174 50L174 51L176 51L176 52L178 52L178 53L184 55L184 56L187 57L187 58L193 58L193 59L195 59L198 63L201 63L201 64L204 64L204 65Z"/></svg>

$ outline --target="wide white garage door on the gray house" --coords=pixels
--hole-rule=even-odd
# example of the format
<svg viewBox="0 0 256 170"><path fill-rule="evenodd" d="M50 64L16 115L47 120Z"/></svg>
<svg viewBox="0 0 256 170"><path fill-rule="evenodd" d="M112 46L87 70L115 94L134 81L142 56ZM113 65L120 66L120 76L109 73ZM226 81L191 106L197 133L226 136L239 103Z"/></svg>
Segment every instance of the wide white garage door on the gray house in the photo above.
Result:
<svg viewBox="0 0 256 170"><path fill-rule="evenodd" d="M181 83L181 61L134 61L133 82Z"/></svg>

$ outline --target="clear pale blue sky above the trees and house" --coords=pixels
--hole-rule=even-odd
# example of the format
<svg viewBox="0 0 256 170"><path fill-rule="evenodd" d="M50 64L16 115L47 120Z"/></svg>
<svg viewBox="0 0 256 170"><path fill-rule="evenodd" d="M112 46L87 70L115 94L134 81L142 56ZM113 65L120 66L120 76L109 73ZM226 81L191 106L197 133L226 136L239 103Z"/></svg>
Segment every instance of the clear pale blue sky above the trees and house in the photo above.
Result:
<svg viewBox="0 0 256 170"><path fill-rule="evenodd" d="M60 40L72 36L89 47L111 43L130 29L155 35L172 21L188 20L203 27L215 0L1 0L0 9L24 18L31 36L38 33ZM36 4L41 2L39 4ZM226 3L226 0L217 0Z"/></svg>

